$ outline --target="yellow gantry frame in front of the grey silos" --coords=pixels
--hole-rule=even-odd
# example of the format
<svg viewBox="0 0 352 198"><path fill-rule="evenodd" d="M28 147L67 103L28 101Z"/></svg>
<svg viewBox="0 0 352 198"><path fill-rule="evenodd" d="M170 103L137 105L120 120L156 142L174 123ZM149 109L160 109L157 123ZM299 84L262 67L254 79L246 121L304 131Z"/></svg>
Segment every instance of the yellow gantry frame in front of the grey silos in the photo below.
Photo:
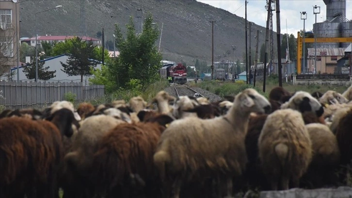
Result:
<svg viewBox="0 0 352 198"><path fill-rule="evenodd" d="M314 43L314 38L304 38L305 43ZM317 43L351 43L352 37L336 37L336 38L317 38ZM302 70L302 47L303 38L300 32L297 33L297 73L300 74Z"/></svg>

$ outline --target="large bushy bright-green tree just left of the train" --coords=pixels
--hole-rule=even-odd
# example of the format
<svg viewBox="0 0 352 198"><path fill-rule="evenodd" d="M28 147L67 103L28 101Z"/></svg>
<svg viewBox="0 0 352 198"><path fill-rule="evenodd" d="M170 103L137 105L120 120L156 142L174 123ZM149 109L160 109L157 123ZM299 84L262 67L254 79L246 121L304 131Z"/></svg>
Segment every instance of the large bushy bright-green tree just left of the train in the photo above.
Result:
<svg viewBox="0 0 352 198"><path fill-rule="evenodd" d="M114 80L121 87L130 87L136 79L140 81L141 88L144 89L152 82L160 78L159 69L161 67L161 53L155 45L159 37L157 27L153 27L153 18L147 14L143 32L136 34L133 17L129 18L126 38L121 32L118 24L115 25L116 47L120 51L117 61L109 65L110 72L114 74Z"/></svg>

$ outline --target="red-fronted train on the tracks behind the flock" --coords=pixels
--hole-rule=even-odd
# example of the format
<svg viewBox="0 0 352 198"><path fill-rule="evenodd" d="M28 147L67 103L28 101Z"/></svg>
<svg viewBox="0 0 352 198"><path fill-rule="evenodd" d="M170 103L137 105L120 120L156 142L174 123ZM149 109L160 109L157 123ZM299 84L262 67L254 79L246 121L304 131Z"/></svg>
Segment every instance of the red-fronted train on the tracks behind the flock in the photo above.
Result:
<svg viewBox="0 0 352 198"><path fill-rule="evenodd" d="M170 83L187 83L187 68L182 63L169 63L160 68L160 77L169 80Z"/></svg>

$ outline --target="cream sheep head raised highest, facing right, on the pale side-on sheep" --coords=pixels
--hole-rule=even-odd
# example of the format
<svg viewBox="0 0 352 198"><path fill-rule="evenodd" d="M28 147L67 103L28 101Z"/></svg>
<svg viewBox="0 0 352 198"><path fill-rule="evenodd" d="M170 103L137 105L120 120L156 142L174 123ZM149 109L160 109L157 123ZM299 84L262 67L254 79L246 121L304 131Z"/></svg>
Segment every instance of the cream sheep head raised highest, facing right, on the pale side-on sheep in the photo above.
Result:
<svg viewBox="0 0 352 198"><path fill-rule="evenodd" d="M236 106L247 113L269 113L271 111L270 102L252 88L245 89L237 94L233 107Z"/></svg>

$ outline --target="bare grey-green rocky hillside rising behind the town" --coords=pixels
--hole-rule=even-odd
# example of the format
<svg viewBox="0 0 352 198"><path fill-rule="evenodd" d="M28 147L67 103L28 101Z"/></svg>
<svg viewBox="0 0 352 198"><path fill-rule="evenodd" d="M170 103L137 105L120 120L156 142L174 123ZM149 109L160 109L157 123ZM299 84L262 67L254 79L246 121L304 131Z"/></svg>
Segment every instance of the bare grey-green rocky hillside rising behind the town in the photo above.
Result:
<svg viewBox="0 0 352 198"><path fill-rule="evenodd" d="M35 34L35 13L56 5L63 8L37 14L38 35L79 35L82 0L28 0L20 3L20 35L32 37ZM227 50L233 59L231 45L236 45L235 59L242 59L245 51L245 20L223 9L212 7L195 0L83 0L88 36L95 37L104 27L106 40L113 40L114 24L119 23L125 30L129 16L133 16L137 26L137 9L152 13L161 30L163 59L184 60L193 65L195 59L211 61L211 23L214 23L214 59ZM242 8L241 8L242 9ZM238 12L244 12L244 7ZM139 18L141 19L141 18ZM256 30L261 30L260 44L264 42L265 28L252 26L252 48L255 49ZM159 44L159 40L158 40ZM254 57L254 55L252 55ZM223 56L222 56L223 59Z"/></svg>

